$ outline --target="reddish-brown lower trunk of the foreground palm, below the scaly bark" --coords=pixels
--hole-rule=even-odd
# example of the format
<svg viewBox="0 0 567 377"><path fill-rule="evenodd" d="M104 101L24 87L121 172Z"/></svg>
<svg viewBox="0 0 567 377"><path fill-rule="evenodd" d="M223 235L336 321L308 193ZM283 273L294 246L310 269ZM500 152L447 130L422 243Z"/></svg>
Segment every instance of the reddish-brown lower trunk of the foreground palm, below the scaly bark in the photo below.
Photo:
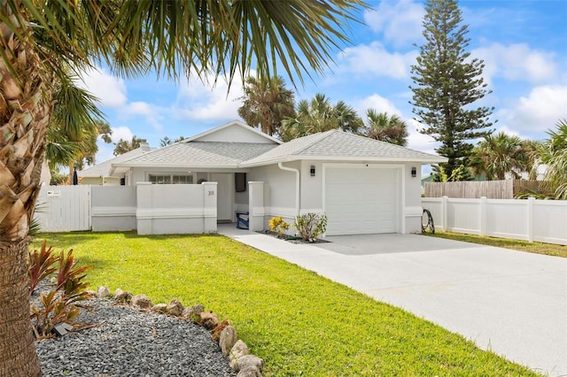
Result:
<svg viewBox="0 0 567 377"><path fill-rule="evenodd" d="M29 321L28 241L0 243L0 374L41 375Z"/></svg>

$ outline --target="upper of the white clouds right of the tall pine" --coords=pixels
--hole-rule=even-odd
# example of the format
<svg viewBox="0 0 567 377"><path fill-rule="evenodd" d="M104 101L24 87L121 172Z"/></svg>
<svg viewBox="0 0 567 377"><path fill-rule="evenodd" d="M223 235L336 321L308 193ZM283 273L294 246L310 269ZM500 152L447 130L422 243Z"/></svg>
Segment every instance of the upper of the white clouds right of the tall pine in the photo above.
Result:
<svg viewBox="0 0 567 377"><path fill-rule="evenodd" d="M471 51L471 56L485 61L483 73L487 82L493 77L503 77L540 84L555 81L558 74L553 53L532 50L525 43L509 46L493 43Z"/></svg>

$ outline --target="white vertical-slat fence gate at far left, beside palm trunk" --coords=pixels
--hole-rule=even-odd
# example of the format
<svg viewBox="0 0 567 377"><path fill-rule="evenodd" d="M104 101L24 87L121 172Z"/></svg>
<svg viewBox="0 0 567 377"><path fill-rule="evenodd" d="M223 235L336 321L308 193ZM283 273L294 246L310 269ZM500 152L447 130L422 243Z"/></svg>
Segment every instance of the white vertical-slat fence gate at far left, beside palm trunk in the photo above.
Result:
<svg viewBox="0 0 567 377"><path fill-rule="evenodd" d="M36 203L43 232L90 230L90 186L43 186Z"/></svg>

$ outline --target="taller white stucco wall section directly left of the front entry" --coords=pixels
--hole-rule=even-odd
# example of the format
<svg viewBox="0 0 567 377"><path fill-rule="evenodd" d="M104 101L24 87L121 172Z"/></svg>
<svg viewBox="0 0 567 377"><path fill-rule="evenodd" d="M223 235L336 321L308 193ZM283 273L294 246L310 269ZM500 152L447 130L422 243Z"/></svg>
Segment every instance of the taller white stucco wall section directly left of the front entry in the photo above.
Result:
<svg viewBox="0 0 567 377"><path fill-rule="evenodd" d="M216 182L152 185L137 191L138 235L216 233Z"/></svg>

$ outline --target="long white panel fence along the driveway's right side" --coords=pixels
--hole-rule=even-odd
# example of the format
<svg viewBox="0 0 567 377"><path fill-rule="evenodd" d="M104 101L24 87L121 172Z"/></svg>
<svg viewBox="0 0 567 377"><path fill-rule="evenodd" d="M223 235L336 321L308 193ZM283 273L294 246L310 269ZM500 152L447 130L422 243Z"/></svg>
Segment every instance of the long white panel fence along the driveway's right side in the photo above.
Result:
<svg viewBox="0 0 567 377"><path fill-rule="evenodd" d="M567 245L567 201L445 196L424 197L422 206L441 230Z"/></svg>

